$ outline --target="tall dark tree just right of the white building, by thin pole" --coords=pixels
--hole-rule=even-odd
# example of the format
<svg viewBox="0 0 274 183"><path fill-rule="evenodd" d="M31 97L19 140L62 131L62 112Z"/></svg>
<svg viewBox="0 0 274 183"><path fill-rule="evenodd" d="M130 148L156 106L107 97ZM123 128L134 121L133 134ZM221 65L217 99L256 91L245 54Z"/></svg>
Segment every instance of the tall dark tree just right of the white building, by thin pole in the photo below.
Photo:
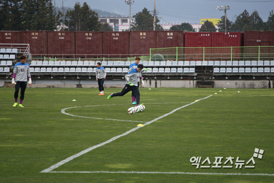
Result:
<svg viewBox="0 0 274 183"><path fill-rule="evenodd" d="M143 8L142 12L136 13L133 16L135 18L135 30L153 30L153 16L149 13L146 8ZM158 25L157 23L160 21L158 17L156 17L156 30L163 30L162 26Z"/></svg>

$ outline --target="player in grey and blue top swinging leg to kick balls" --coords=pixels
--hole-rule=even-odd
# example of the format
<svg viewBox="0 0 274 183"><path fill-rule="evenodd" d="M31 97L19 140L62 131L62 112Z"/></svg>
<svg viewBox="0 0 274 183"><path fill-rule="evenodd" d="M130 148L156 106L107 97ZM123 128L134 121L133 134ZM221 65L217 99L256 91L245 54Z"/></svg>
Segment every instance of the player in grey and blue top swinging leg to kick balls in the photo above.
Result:
<svg viewBox="0 0 274 183"><path fill-rule="evenodd" d="M109 95L108 100L110 100L112 97L124 96L128 92L132 91L134 93L134 95L136 96L136 102L137 102L137 106L138 106L140 103L140 92L139 92L139 88L138 88L138 81L139 81L139 77L140 77L140 71L142 69L143 69L142 64L138 64L137 68L132 69L132 71L129 72L125 76L127 84L125 85L123 90L121 92L113 93L113 94Z"/></svg>

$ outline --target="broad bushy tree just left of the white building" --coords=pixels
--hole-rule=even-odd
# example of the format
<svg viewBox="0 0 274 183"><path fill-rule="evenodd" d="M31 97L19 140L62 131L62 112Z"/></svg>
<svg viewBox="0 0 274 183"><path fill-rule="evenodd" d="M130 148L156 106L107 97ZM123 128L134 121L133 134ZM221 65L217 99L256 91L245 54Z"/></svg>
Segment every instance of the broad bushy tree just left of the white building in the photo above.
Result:
<svg viewBox="0 0 274 183"><path fill-rule="evenodd" d="M72 31L99 31L101 28L98 13L91 10L87 2L84 2L83 6L76 2L74 9L67 11L64 23L69 25Z"/></svg>

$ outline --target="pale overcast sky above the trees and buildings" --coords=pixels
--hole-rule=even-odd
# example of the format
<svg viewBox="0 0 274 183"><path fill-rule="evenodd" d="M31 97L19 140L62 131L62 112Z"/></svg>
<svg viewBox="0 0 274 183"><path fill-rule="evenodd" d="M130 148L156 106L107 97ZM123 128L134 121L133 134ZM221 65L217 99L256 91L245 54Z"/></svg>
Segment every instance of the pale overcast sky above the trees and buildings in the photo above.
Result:
<svg viewBox="0 0 274 183"><path fill-rule="evenodd" d="M91 9L115 12L129 15L129 5L125 0L63 0L65 7L73 8L76 1L81 5L87 2ZM62 0L55 0L56 6L61 7ZM257 10L260 17L267 21L270 11L274 10L274 0L156 0L156 11L160 21L190 21L199 23L201 18L221 18L224 10L217 10L216 6L229 5L227 18L235 21L235 15L241 14L245 9L252 14ZM154 0L135 0L132 4L132 16L147 8L153 12Z"/></svg>

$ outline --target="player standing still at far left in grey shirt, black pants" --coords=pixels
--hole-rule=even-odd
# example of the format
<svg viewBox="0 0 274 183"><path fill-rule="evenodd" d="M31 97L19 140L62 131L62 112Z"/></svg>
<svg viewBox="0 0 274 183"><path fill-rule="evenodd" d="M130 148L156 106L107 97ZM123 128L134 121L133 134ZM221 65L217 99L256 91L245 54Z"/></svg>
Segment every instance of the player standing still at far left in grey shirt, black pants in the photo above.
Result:
<svg viewBox="0 0 274 183"><path fill-rule="evenodd" d="M26 63L26 56L22 55L20 56L20 59L21 61L14 65L13 76L11 80L11 84L15 84L15 92L14 92L15 103L13 104L13 107L16 107L18 105L17 98L18 98L18 93L20 88L21 88L21 92L20 92L21 95L20 95L20 103L18 107L24 107L22 106L22 102L24 100L27 79L28 79L28 84L31 85L30 70L29 70L29 65Z"/></svg>

